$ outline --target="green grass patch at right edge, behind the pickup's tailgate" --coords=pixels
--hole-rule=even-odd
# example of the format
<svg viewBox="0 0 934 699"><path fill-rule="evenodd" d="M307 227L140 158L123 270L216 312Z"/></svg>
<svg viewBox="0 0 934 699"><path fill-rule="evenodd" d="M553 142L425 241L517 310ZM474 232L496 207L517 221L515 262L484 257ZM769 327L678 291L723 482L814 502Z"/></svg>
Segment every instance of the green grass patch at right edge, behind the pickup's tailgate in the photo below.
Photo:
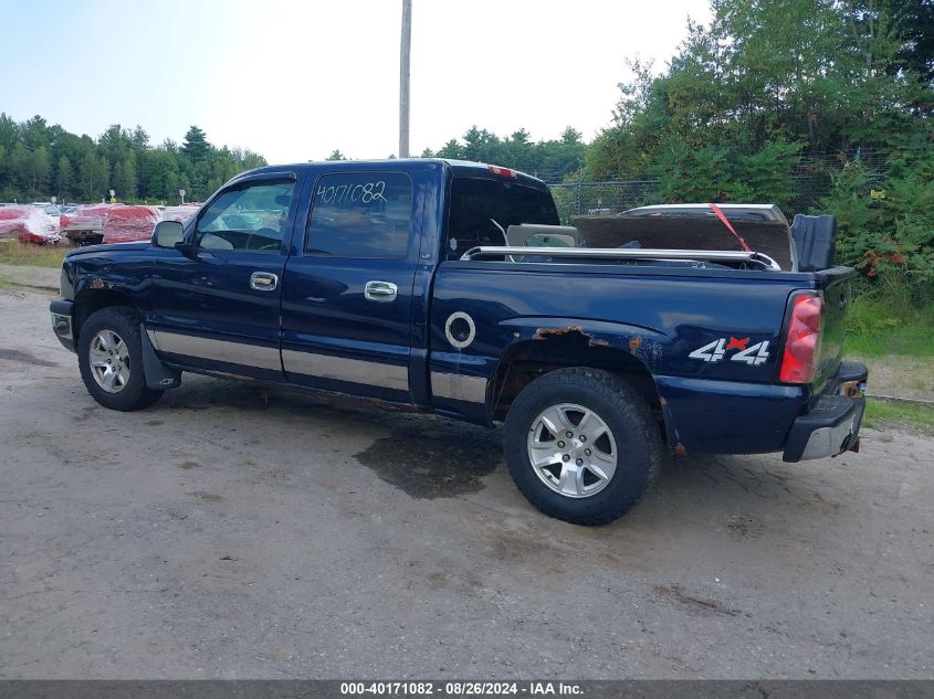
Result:
<svg viewBox="0 0 934 699"><path fill-rule="evenodd" d="M847 316L847 354L934 357L934 303L912 307L860 296Z"/></svg>

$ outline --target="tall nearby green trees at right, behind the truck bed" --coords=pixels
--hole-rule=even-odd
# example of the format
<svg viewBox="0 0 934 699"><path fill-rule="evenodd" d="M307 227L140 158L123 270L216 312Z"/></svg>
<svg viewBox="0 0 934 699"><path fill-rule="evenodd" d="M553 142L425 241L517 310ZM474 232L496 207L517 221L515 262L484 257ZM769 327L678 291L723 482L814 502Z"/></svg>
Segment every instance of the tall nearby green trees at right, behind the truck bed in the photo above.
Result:
<svg viewBox="0 0 934 699"><path fill-rule="evenodd" d="M590 180L661 201L788 203L822 176L838 262L934 297L934 0L711 0L668 66L633 61Z"/></svg>

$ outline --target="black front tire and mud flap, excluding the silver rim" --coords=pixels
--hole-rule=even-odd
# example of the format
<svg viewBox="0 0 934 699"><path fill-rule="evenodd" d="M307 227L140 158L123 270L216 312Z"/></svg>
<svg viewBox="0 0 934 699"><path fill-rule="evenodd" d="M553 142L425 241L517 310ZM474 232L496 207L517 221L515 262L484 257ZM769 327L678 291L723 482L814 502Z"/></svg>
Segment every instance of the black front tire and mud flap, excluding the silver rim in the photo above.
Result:
<svg viewBox="0 0 934 699"><path fill-rule="evenodd" d="M108 392L97 383L91 368L91 343L98 332L109 330L126 345L129 377L116 392ZM91 396L104 407L134 411L159 400L162 391L146 388L143 373L143 346L139 338L139 317L126 306L111 306L92 314L81 326L77 341L77 366L81 379Z"/></svg>

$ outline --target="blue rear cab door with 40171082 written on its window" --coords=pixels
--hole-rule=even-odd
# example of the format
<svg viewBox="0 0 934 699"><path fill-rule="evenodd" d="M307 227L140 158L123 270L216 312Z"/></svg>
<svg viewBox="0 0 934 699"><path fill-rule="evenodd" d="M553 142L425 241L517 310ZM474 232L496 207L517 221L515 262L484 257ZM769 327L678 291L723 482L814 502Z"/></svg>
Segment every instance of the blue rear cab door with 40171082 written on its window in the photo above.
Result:
<svg viewBox="0 0 934 699"><path fill-rule="evenodd" d="M282 289L290 382L410 401L420 230L412 191L402 171L355 168L317 178Z"/></svg>

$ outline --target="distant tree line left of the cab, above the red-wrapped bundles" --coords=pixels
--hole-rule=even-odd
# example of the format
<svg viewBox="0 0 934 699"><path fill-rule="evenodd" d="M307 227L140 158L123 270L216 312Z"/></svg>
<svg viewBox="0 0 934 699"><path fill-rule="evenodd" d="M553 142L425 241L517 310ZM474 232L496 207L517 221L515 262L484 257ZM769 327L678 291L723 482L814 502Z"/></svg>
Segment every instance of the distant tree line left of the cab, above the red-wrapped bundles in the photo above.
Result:
<svg viewBox="0 0 934 699"><path fill-rule="evenodd" d="M99 201L114 190L124 202L177 202L207 198L243 170L266 165L259 153L220 148L192 126L179 146L149 144L137 126L115 124L96 140L41 116L18 123L0 114L0 201Z"/></svg>

